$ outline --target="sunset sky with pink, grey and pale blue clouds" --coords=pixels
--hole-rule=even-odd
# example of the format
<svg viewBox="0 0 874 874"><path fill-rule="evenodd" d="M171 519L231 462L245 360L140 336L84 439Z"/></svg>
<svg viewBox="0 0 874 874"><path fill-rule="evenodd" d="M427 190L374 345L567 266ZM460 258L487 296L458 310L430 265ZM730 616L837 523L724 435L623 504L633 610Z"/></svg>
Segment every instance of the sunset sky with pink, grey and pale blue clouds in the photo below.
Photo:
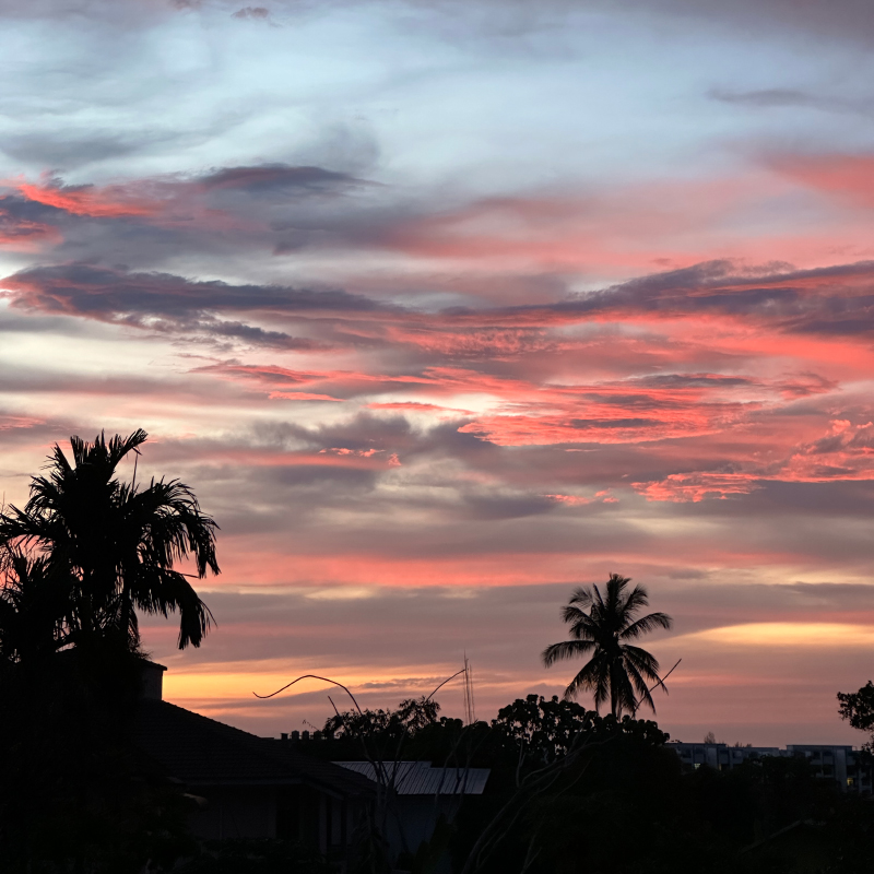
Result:
<svg viewBox="0 0 874 874"><path fill-rule="evenodd" d="M864 740L866 1L0 14L0 491L149 432L221 527L203 646L143 625L169 700L277 734L342 698L252 692L392 707L466 654L489 719L619 572L673 737Z"/></svg>

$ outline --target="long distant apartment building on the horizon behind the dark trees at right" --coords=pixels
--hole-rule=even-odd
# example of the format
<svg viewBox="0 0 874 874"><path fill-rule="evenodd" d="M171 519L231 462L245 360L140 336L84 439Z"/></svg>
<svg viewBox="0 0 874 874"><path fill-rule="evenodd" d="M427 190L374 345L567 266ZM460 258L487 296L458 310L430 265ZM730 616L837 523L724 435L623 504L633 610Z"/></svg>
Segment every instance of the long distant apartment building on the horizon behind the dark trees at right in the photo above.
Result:
<svg viewBox="0 0 874 874"><path fill-rule="evenodd" d="M811 763L814 773L824 780L836 780L843 792L870 794L871 769L861 760L860 751L852 746L825 744L790 744L780 746L729 746L728 744L688 744L671 741L680 760L689 769L706 765L722 771L736 768L749 758L764 756L798 756Z"/></svg>

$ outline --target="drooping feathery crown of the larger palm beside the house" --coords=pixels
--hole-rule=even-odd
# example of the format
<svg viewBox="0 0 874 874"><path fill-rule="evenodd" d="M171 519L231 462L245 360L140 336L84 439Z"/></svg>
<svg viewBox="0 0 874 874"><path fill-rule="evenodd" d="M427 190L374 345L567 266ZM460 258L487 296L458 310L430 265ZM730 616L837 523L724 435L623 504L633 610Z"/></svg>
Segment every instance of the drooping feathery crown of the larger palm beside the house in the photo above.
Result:
<svg viewBox="0 0 874 874"><path fill-rule="evenodd" d="M93 444L71 437L72 463L56 445L48 474L35 476L21 510L0 512L0 546L35 550L42 579L69 581L59 621L69 642L121 635L140 641L137 609L167 616L179 612L179 649L200 646L212 614L177 562L192 558L198 578L218 574L214 520L178 480L140 488L121 483L118 464L146 439L139 429Z"/></svg>

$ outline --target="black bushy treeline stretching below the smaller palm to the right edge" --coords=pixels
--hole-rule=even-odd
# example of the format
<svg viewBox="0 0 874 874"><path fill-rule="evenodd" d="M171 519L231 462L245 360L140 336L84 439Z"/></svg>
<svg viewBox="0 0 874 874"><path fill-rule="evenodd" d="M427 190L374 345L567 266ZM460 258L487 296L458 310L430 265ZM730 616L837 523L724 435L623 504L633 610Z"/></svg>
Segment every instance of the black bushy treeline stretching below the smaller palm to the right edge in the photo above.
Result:
<svg viewBox="0 0 874 874"><path fill-rule="evenodd" d="M429 760L492 769L434 841L399 860L426 874L448 848L456 872L480 874L793 874L871 872L874 812L805 759L763 757L732 770L685 769L650 720L598 716L529 695L491 722L463 725L433 701L342 713L297 748L330 760ZM562 763L569 757L567 768ZM553 768L543 791L520 783ZM477 840L509 807L487 852ZM475 855L475 853L474 853Z"/></svg>

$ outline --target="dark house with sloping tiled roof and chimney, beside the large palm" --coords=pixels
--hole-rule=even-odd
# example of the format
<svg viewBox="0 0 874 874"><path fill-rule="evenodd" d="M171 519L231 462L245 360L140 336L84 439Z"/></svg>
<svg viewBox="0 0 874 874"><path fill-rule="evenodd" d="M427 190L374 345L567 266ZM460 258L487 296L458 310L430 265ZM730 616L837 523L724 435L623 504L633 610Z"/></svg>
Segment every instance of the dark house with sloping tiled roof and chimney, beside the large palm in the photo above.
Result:
<svg viewBox="0 0 874 874"><path fill-rule="evenodd" d="M166 668L145 662L133 741L167 777L202 799L200 838L293 838L343 859L373 796L366 776L319 761L163 700Z"/></svg>

